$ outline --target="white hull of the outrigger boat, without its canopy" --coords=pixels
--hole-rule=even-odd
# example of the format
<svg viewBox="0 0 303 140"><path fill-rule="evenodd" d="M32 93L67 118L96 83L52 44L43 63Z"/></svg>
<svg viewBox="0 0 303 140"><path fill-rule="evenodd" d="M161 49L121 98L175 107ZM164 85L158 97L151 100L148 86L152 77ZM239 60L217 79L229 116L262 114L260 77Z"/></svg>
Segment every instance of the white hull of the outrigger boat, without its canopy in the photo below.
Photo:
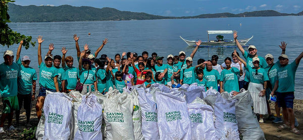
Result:
<svg viewBox="0 0 303 140"><path fill-rule="evenodd" d="M254 36L251 36L250 38L247 38L247 39L241 39L241 40L238 40L239 41L239 43L242 45L242 46L245 46L245 44L252 38L252 37L254 37ZM192 41L190 41L190 40L186 40L186 39L184 39L184 38L182 38L181 36L180 36L180 38L182 39L182 40L184 40L188 45L192 45L192 46L195 46L196 45L196 41L194 41L194 40L192 40ZM216 42L216 41L202 41L201 42L201 44L199 45L199 46L213 46L213 47L216 47L216 46L237 46L237 44L236 44L236 42L235 41L232 41L232 40L230 40L230 41L220 41L220 42Z"/></svg>

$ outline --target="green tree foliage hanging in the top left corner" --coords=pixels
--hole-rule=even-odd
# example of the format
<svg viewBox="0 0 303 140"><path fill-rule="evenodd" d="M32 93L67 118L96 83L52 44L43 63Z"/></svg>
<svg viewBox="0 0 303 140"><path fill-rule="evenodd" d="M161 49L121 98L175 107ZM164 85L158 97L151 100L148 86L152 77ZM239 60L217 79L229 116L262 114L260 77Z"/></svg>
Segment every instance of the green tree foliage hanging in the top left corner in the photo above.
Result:
<svg viewBox="0 0 303 140"><path fill-rule="evenodd" d="M7 45L9 48L10 45L19 43L23 40L23 46L25 46L25 49L28 49L30 44L35 46L36 42L31 41L31 36L21 35L20 33L12 30L7 24L11 22L10 15L8 14L8 3L13 3L15 1L0 0L0 2L0 44L3 46Z"/></svg>

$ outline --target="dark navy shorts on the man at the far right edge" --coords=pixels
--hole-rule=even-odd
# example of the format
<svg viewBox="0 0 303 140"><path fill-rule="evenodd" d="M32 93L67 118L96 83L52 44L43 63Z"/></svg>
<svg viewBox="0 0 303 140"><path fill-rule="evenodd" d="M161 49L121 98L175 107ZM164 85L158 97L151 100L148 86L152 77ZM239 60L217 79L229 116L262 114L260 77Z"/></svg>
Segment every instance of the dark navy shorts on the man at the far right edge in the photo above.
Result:
<svg viewBox="0 0 303 140"><path fill-rule="evenodd" d="M294 92L276 92L277 103L282 108L293 108Z"/></svg>

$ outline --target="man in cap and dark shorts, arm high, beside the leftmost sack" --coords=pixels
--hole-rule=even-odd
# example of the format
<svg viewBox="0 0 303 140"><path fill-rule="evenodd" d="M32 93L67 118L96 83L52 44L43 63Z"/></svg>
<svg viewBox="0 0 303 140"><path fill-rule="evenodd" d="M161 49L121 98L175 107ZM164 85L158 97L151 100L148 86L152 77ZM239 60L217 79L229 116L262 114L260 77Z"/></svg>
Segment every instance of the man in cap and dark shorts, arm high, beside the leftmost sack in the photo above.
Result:
<svg viewBox="0 0 303 140"><path fill-rule="evenodd" d="M46 96L46 90L52 91L52 92L59 92L59 84L58 84L58 73L57 69L53 67L53 55L47 54L44 57L44 63L42 62L41 57L41 43L44 41L42 40L42 36L39 35L37 37L38 39L38 64L39 64L39 70L40 70L40 76L39 76L39 95L37 99L36 104L36 113L37 117L40 120L40 117L42 115L42 107L44 104L44 99ZM49 44L48 48L53 48L54 44Z"/></svg>

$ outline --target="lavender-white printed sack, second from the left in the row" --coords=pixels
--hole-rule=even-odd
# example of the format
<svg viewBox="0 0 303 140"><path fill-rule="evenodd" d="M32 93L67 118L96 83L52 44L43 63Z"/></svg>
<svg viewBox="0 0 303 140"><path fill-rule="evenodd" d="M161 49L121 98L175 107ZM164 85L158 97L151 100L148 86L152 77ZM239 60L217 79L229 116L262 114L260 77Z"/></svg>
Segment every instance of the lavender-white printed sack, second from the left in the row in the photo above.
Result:
<svg viewBox="0 0 303 140"><path fill-rule="evenodd" d="M102 105L94 94L82 96L78 109L78 130L75 139L102 139Z"/></svg>

